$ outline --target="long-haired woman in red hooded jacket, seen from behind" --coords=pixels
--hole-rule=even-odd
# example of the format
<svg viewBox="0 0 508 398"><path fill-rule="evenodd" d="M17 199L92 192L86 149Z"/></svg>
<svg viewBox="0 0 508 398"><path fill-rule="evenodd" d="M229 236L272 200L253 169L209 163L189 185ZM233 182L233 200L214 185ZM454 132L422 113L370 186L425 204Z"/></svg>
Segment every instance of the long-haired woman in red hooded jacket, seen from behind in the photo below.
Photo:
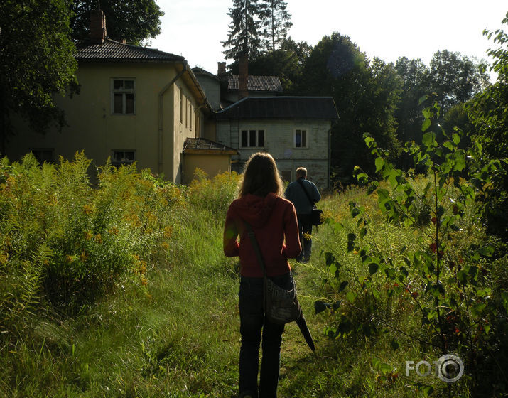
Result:
<svg viewBox="0 0 508 398"><path fill-rule="evenodd" d="M279 286L291 289L293 276L288 258L298 256L301 246L295 208L282 195L283 185L274 158L270 154L257 153L247 161L238 198L227 211L224 253L227 257L240 257L241 398L277 396L284 326L264 318L263 271L247 235L244 220L252 225L266 264L267 276ZM261 330L263 353L258 394Z"/></svg>

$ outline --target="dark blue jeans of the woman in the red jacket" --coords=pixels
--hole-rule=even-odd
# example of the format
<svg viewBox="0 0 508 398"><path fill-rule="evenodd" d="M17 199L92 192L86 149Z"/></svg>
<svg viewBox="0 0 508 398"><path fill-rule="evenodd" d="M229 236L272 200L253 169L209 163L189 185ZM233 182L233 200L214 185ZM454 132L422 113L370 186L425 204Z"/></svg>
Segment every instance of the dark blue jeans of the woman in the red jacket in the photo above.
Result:
<svg viewBox="0 0 508 398"><path fill-rule="evenodd" d="M275 284L291 289L291 273L271 278ZM283 325L267 321L263 312L263 278L240 279L239 291L240 334L240 380L239 393L249 392L253 397L276 398L279 384L279 365ZM261 343L261 329L262 343ZM259 369L259 344L263 349L259 394L257 375Z"/></svg>

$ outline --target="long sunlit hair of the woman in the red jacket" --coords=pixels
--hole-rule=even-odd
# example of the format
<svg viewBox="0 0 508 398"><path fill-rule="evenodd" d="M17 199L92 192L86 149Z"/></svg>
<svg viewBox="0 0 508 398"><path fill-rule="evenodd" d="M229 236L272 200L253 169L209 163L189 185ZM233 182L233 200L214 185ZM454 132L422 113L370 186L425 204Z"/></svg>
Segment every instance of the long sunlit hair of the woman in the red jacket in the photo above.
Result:
<svg viewBox="0 0 508 398"><path fill-rule="evenodd" d="M269 193L282 196L283 186L274 158L266 152L257 152L245 163L238 197L242 198L248 193L262 197Z"/></svg>

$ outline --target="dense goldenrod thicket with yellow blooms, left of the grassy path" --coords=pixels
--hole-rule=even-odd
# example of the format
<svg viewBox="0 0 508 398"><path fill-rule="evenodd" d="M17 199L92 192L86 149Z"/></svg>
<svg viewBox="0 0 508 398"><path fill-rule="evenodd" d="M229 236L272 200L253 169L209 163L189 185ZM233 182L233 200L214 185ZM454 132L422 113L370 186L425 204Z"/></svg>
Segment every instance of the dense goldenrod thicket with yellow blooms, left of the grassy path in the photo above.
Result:
<svg viewBox="0 0 508 398"><path fill-rule="evenodd" d="M183 194L136 166L99 168L90 160L0 163L0 326L42 301L75 313L127 277L141 288L151 259L163 256Z"/></svg>

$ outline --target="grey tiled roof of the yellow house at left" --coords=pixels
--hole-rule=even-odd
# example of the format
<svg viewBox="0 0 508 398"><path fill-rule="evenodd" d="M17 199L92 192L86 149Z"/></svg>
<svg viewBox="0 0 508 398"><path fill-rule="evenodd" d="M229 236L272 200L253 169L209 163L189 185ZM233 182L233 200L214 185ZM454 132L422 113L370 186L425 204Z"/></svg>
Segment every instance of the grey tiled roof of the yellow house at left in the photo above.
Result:
<svg viewBox="0 0 508 398"><path fill-rule="evenodd" d="M77 49L81 62L185 62L185 58L152 48L119 43L107 38L102 44L84 45Z"/></svg>

